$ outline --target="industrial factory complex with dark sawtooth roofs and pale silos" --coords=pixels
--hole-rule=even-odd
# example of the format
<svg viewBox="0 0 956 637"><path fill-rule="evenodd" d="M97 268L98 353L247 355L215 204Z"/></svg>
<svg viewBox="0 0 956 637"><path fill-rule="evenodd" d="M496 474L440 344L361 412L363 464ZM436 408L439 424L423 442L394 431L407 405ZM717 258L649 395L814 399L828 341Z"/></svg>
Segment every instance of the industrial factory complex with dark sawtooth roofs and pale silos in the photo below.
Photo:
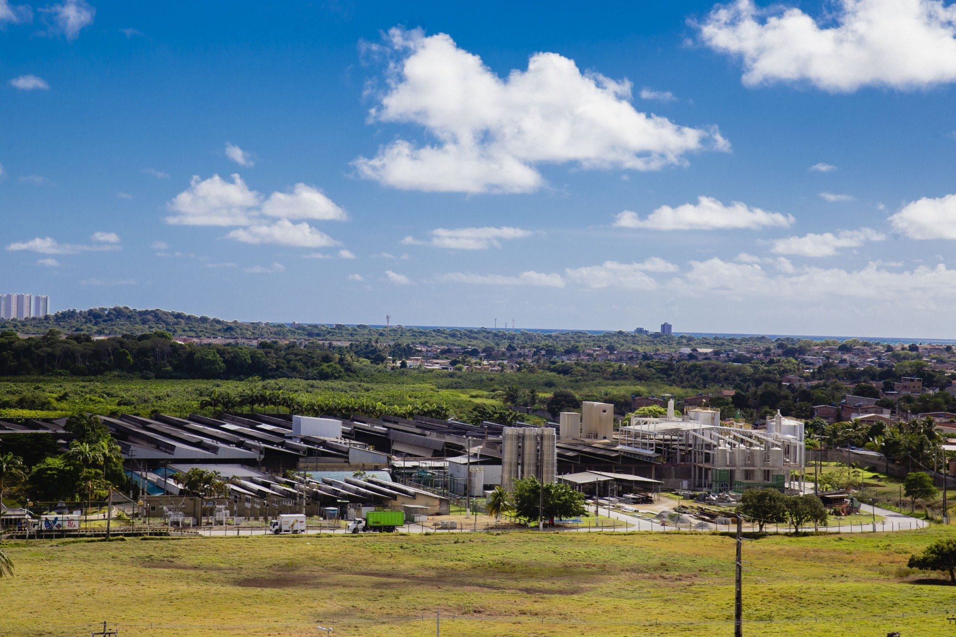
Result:
<svg viewBox="0 0 956 637"><path fill-rule="evenodd" d="M715 410L675 415L672 403L661 417L616 422L612 405L584 402L580 413L543 427L427 417L98 417L149 506L177 496L182 485L173 477L193 468L228 481L228 496L185 512L196 520L215 507L249 519L303 510L350 519L362 508L402 508L414 519L447 513L466 492L481 497L531 476L595 496L783 491L804 470L802 421L777 414L757 429L722 424ZM0 435L48 433L65 448L71 438L63 424L0 422Z"/></svg>

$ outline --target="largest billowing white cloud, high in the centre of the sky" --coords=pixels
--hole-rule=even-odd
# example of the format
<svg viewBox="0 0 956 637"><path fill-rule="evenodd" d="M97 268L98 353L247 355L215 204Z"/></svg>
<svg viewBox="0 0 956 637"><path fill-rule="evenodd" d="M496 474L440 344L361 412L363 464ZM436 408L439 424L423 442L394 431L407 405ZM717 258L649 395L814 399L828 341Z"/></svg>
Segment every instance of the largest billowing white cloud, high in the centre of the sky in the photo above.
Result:
<svg viewBox="0 0 956 637"><path fill-rule="evenodd" d="M728 150L715 128L690 128L641 113L631 84L582 74L573 60L535 53L506 79L444 33L393 29L379 49L392 56L387 90L370 120L411 123L438 140L397 139L354 165L362 177L406 190L531 192L537 163L656 170L686 155Z"/></svg>

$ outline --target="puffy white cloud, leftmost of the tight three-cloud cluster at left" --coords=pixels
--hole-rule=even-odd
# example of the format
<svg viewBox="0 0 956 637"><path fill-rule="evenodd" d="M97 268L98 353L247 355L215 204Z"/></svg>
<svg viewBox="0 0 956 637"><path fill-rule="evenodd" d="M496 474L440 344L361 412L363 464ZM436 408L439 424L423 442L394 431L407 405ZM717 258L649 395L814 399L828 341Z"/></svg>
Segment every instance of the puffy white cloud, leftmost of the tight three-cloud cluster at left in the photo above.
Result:
<svg viewBox="0 0 956 637"><path fill-rule="evenodd" d="M166 223L175 225L248 225L253 208L262 203L262 196L250 190L238 175L232 181L213 175L201 180L194 175L189 188L166 204L176 213L166 217Z"/></svg>

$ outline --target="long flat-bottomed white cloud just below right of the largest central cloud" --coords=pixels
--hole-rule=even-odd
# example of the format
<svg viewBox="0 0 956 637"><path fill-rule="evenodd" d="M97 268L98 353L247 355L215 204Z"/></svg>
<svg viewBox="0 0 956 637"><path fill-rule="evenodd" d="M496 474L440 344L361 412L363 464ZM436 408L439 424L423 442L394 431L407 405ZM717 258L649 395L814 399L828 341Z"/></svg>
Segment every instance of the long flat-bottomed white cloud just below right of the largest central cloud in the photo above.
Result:
<svg viewBox="0 0 956 637"><path fill-rule="evenodd" d="M614 225L650 230L754 230L789 227L792 223L792 215L751 208L741 202L724 205L712 197L698 197L697 203L684 203L676 208L662 205L645 219L641 219L636 212L625 210L615 215Z"/></svg>

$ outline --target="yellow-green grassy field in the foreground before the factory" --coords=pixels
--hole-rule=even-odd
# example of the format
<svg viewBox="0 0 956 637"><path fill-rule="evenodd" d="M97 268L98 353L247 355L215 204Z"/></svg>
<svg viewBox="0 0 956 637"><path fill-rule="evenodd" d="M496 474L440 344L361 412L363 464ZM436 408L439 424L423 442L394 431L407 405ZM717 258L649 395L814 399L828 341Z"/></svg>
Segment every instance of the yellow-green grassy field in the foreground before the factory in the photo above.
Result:
<svg viewBox="0 0 956 637"><path fill-rule="evenodd" d="M905 567L945 531L745 545L745 634L948 634L954 588ZM731 538L326 536L6 543L0 635L730 634ZM902 616L905 614L905 616ZM892 615L892 617L887 617ZM423 619L424 618L424 619ZM333 624L334 623L334 624Z"/></svg>

